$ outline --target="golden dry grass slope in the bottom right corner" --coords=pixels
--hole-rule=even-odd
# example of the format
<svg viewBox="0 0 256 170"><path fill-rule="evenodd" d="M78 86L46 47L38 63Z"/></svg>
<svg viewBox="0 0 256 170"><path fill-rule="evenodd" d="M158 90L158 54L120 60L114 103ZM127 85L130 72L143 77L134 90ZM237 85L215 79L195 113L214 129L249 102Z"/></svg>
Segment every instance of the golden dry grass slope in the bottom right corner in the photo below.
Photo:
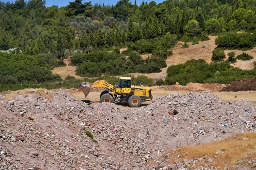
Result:
<svg viewBox="0 0 256 170"><path fill-rule="evenodd" d="M243 139L243 138L248 138ZM220 169L224 167L233 167L238 161L243 160L243 163L256 158L256 133L246 132L236 134L232 137L228 137L223 141L215 141L212 143L201 144L197 146L183 146L166 152L159 160L162 160L166 154L169 154L168 164L172 162L183 161L184 159L196 159L207 155L210 158L214 158L211 163L207 163L210 166L220 166ZM216 156L216 151L222 150L223 152ZM250 154L247 154L250 153ZM207 159L206 159L207 162ZM201 162L202 165L206 162ZM196 168L195 166L194 168ZM193 168L188 168L193 169ZM197 168L196 168L197 169Z"/></svg>

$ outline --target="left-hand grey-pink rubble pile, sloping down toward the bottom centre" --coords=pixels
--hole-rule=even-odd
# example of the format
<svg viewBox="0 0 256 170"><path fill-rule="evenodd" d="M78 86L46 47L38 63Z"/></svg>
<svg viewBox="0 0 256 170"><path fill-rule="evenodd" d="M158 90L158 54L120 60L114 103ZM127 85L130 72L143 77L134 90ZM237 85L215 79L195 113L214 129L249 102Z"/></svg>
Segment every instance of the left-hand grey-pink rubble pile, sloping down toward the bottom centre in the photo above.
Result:
<svg viewBox="0 0 256 170"><path fill-rule="evenodd" d="M0 169L118 167L100 153L100 145L76 126L75 119L66 119L93 109L64 90L52 94L52 100L39 94L24 94L1 101Z"/></svg>

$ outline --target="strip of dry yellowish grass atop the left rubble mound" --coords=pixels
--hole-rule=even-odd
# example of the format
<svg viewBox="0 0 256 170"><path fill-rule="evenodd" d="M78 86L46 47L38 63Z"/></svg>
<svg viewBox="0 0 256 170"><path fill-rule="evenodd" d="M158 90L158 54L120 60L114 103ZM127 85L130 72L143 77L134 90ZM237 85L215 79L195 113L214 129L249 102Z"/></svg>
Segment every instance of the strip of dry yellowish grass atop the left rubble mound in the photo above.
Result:
<svg viewBox="0 0 256 170"><path fill-rule="evenodd" d="M12 98L12 97L15 97L15 96L18 96L20 94L28 94L28 93L34 93L34 94L37 94L37 93L40 93L41 96L45 99L52 99L52 93L48 92L48 93L44 93L44 91L49 91L47 89L42 89L42 88L39 88L39 89L34 89L35 92L32 92L33 89L23 89L23 90L20 90L19 93L15 94L16 91L11 91L11 93L7 94L5 96L5 98Z"/></svg>

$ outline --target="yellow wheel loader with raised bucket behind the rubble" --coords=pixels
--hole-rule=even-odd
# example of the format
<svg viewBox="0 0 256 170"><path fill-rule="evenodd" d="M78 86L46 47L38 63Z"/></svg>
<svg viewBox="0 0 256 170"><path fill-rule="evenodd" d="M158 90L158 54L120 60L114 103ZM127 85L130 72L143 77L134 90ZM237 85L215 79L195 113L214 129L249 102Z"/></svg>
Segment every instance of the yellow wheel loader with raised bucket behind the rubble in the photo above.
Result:
<svg viewBox="0 0 256 170"><path fill-rule="evenodd" d="M153 99L151 89L142 87L141 83L133 84L130 77L118 78L117 84L108 84L105 80L95 81L93 84L82 82L79 84L79 89L85 95L89 94L91 87L102 87L105 90L100 94L100 102L110 103L128 103L131 107L140 107L141 102L150 101Z"/></svg>

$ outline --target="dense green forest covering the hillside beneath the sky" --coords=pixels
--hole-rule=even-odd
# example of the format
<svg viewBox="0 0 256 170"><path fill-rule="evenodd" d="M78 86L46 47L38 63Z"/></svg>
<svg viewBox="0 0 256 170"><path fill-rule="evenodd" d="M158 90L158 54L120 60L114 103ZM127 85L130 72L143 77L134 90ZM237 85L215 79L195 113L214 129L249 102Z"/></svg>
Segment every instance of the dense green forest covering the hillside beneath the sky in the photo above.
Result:
<svg viewBox="0 0 256 170"><path fill-rule="evenodd" d="M198 43L208 40L207 34L220 35L220 48L249 49L256 44L250 34L255 11L253 0L121 0L115 5L75 0L60 8L46 7L45 0L0 2L0 86L61 81L50 70L64 66L68 56L76 73L87 77L160 72L178 40ZM241 30L247 33L232 32ZM121 47L128 50L119 54ZM149 53L151 58L140 57Z"/></svg>

